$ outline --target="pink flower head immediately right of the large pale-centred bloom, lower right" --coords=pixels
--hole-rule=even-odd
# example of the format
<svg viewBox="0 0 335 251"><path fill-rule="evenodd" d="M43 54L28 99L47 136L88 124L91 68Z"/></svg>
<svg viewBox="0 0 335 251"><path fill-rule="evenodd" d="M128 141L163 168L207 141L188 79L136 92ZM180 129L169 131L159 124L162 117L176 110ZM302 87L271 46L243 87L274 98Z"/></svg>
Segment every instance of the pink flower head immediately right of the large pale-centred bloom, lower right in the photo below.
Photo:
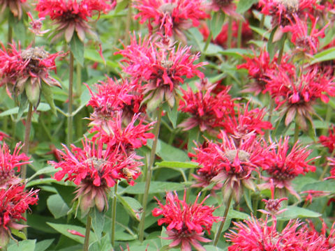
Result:
<svg viewBox="0 0 335 251"><path fill-rule="evenodd" d="M301 147L297 142L290 149L289 137L281 138L274 149L269 151L268 165L263 167L269 177L263 177L267 183L259 185L260 188L278 189L281 197L285 196L285 190L300 198L297 192L292 188L291 181L299 174L305 175L307 172L315 172L316 167L308 163L315 160L311 158L306 160L311 154L306 147Z"/></svg>

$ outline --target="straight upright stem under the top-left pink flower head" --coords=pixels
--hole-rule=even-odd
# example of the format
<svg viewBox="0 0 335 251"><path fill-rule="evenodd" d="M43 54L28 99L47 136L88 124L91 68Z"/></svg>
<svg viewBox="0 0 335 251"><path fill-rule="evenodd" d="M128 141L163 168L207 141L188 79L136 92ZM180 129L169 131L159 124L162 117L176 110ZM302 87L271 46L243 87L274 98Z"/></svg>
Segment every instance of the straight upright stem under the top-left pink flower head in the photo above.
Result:
<svg viewBox="0 0 335 251"><path fill-rule="evenodd" d="M73 140L73 53L70 52L70 75L68 77L68 137L66 144L70 146Z"/></svg>

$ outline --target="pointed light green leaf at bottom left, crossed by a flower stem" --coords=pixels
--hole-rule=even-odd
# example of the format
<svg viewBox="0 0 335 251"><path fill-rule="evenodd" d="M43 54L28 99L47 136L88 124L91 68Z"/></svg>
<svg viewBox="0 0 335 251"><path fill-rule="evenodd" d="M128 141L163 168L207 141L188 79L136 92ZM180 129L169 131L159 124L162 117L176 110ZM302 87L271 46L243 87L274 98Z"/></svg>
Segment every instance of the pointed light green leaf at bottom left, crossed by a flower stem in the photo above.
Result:
<svg viewBox="0 0 335 251"><path fill-rule="evenodd" d="M70 230L74 230L74 231L79 232L82 235L85 235L84 227L78 227L76 225L68 225L68 224L56 224L56 223L51 223L51 222L47 222L47 225L49 225L50 227L52 227L54 230L58 231L62 235L70 239L73 239L74 241L77 241L78 243L84 244L84 237L78 236L76 234L71 234L69 232ZM94 233L91 232L89 234L89 242L92 243L94 241L96 241L96 236L94 235Z"/></svg>

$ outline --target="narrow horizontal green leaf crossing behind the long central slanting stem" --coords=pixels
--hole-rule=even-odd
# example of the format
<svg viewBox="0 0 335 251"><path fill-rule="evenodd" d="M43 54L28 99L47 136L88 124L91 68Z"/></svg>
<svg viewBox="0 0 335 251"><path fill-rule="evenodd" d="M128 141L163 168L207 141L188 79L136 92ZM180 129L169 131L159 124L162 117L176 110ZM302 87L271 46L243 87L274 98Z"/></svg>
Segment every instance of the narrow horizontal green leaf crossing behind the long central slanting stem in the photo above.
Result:
<svg viewBox="0 0 335 251"><path fill-rule="evenodd" d="M131 195L142 195L144 193L145 182L139 182L134 186L128 186L123 192ZM165 192L165 191L181 191L185 186L181 183L151 181L149 194Z"/></svg>

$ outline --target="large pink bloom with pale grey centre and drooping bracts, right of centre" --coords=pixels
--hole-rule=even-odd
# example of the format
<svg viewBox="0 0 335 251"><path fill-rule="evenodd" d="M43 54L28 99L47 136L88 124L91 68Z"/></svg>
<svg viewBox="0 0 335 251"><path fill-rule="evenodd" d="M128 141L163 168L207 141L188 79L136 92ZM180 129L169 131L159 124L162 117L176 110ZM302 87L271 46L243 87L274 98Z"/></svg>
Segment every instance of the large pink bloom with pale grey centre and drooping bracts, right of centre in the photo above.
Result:
<svg viewBox="0 0 335 251"><path fill-rule="evenodd" d="M228 137L223 131L218 137L222 139L222 143L208 142L207 146L195 149L195 154L190 155L202 168L213 169L214 173L218 173L211 182L224 184L225 201L232 193L234 200L238 202L244 186L255 190L251 172L258 171L259 167L265 165L267 146L262 146L253 133L241 139L238 146L234 138Z"/></svg>

